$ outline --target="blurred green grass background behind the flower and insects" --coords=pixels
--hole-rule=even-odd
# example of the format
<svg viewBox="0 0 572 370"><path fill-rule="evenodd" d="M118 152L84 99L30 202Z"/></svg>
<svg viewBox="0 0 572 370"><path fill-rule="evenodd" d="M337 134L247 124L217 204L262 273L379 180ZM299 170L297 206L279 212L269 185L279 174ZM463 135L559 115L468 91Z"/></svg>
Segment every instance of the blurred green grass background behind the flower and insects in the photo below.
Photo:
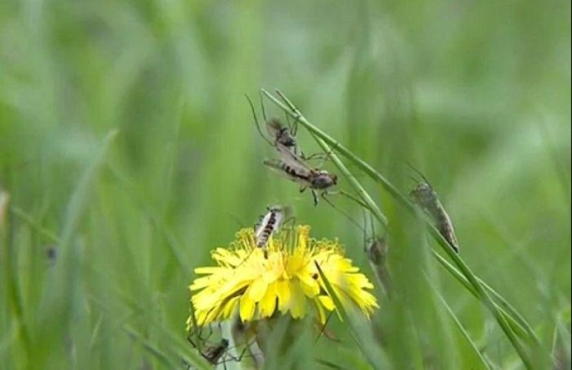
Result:
<svg viewBox="0 0 572 370"><path fill-rule="evenodd" d="M569 1L2 1L0 368L184 368L193 269L274 203L338 237L373 279L361 230L261 165L273 154L244 97L260 87L402 192L414 185L406 163L423 171L471 269L547 351L557 327L569 348L570 12ZM298 140L318 151L303 128ZM392 251L433 245L404 242L403 220ZM410 300L379 296L374 317L390 360L476 368L443 333L454 326L435 324L438 299L423 304L435 296L411 254L390 255ZM483 305L417 262L485 357L521 368ZM319 345L367 368L349 339Z"/></svg>

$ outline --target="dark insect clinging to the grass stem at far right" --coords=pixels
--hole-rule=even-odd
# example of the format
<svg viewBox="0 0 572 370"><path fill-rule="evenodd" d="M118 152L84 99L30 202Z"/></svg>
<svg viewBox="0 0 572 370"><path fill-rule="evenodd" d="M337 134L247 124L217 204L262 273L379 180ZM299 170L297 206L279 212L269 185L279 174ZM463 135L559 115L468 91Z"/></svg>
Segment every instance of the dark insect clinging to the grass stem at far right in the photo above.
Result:
<svg viewBox="0 0 572 370"><path fill-rule="evenodd" d="M410 167L417 171L415 167ZM455 251L455 253L459 253L459 243L457 242L451 217L449 217L449 214L439 201L437 192L433 190L433 187L431 187L427 178L419 171L417 171L417 174L423 178L423 181L418 182L409 195L413 198L413 201L415 201L415 203L417 203L417 205L419 205L419 207L421 207L427 215L433 219L435 227L439 230L441 236L447 240L453 251Z"/></svg>

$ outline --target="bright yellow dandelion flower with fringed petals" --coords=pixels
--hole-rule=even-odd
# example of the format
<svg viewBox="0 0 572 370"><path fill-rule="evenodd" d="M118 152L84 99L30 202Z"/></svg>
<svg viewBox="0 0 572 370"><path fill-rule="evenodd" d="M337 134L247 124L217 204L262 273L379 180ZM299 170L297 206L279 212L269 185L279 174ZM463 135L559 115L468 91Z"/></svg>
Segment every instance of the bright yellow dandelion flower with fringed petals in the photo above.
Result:
<svg viewBox="0 0 572 370"><path fill-rule="evenodd" d="M357 305L367 315L379 308L367 292L373 285L345 258L338 241L309 237L309 226L283 229L270 237L266 251L257 247L252 228L236 234L230 249L217 248L216 267L199 267L189 289L198 326L232 317L242 321L271 317L276 312L295 319L315 310L324 323L336 309L320 278L317 262L343 305ZM187 326L191 326L191 317Z"/></svg>

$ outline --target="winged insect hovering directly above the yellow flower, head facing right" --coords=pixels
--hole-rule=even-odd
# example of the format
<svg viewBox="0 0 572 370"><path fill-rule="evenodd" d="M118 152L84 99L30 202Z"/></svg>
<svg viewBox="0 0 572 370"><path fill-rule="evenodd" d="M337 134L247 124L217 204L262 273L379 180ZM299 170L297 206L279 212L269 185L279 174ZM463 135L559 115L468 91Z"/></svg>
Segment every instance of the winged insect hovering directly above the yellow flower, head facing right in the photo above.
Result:
<svg viewBox="0 0 572 370"><path fill-rule="evenodd" d="M288 150L288 147L277 144L276 148L280 154L279 160L263 160L263 164L275 169L295 183L299 183L300 192L310 189L314 199L314 205L318 205L318 190L322 190L323 197L327 190L338 183L338 176L330 174L324 169L312 169L300 159L295 153Z"/></svg>

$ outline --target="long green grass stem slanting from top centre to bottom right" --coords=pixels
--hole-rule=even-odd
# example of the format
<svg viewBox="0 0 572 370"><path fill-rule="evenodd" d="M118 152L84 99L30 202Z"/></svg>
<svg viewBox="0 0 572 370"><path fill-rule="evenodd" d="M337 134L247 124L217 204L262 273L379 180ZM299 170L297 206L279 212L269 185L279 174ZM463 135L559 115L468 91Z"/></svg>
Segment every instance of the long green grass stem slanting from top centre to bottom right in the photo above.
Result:
<svg viewBox="0 0 572 370"><path fill-rule="evenodd" d="M417 212L417 208L415 208L415 205L413 205L413 203L411 203L409 201L409 199L406 198L406 196L401 194L401 192L399 192L399 190L397 190L397 188L395 186L393 186L387 179L385 179L383 176L381 176L381 174L379 174L373 167L371 167L366 162L361 160L361 158L358 158L357 155L355 155L354 153L352 153L351 151L346 149L345 146L339 144L336 140L333 140L332 137L330 137L329 135L327 135L326 133L321 131L319 128L310 124L309 121L307 121L306 118L300 113L300 111L297 110L295 108L295 106L293 106L293 104L290 103L288 101L288 99L285 98L284 94L281 94L280 92L278 93L284 99L284 101L288 101L288 105L290 107L285 106L284 103L282 103L281 101L276 99L275 96L272 96L271 94L269 94L266 90L262 90L262 92L263 92L263 94L265 94L268 97L268 99L270 99L270 101L275 103L276 106L278 106L279 108L284 110L284 112L286 112L286 114L291 115L291 117L293 117L294 119L297 119L297 121L300 124L302 124L313 135L319 137L321 140L323 140L327 144L333 146L333 148L336 149L336 151L338 151L338 153L341 153L347 159L354 162L354 164L356 166L358 166L365 174L370 176L370 178L372 178L374 181L376 181L376 183L379 183L393 198L397 199L397 201L399 201L399 203L401 203L401 205L404 205L404 207L407 208L408 210L410 210L411 212ZM336 163L336 162L334 162L334 163ZM451 260L453 260L454 264L456 264L456 267L460 270L460 274L462 274L462 276L465 276L467 281L474 288L476 294L478 295L478 298L480 298L480 301L483 302L483 304L492 313L492 315L496 319L497 323L499 323L499 326L501 326L501 329L503 330L505 335L508 337L512 346L517 351L517 353L519 353L519 356L520 356L523 364L526 366L527 369L533 369L534 367L532 366L532 361L530 360L530 356L528 354L528 351L526 351L526 349L523 348L521 342L519 342L519 339L516 337L515 333L512 331L512 328L508 324L508 321L505 319L505 316L501 313L501 310L499 310L498 306L494 303L492 298L487 293L485 285L480 283L480 279L478 279L473 274L471 269L469 269L467 264L465 264L465 262L460 258L460 256L458 254L456 254L451 249L451 246L449 246L449 243L447 242L447 240L445 240L440 235L440 233L435 228L435 226L433 226L433 224L431 224L431 222L428 222L428 220L426 218L424 218L424 220L426 221L427 226L431 232L431 235L433 235L433 238L442 247L444 252L447 253L447 255L449 255L449 258L451 258ZM437 260L440 261L440 259L437 259ZM456 275L454 275L454 276L456 278L458 278ZM462 283L462 281L461 281L461 283ZM532 339L530 339L530 340L532 340Z"/></svg>

